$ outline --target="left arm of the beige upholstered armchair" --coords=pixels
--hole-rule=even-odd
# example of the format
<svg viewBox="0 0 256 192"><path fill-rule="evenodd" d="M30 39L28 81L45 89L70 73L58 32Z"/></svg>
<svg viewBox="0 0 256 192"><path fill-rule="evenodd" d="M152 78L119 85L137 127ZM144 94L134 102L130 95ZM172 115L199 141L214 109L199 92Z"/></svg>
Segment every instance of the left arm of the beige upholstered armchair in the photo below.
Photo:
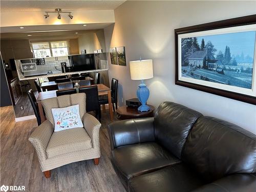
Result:
<svg viewBox="0 0 256 192"><path fill-rule="evenodd" d="M39 161L47 159L46 147L53 131L52 123L49 120L45 120L42 124L36 127L35 131L29 137L29 141L35 147Z"/></svg>

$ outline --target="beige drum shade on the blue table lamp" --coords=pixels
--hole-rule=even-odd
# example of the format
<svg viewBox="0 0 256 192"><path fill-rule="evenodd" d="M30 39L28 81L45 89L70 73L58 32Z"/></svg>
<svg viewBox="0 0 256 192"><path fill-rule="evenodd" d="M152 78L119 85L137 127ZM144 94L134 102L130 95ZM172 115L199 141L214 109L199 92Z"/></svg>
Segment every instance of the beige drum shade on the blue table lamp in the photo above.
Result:
<svg viewBox="0 0 256 192"><path fill-rule="evenodd" d="M130 72L133 80L153 78L152 59L130 61Z"/></svg>

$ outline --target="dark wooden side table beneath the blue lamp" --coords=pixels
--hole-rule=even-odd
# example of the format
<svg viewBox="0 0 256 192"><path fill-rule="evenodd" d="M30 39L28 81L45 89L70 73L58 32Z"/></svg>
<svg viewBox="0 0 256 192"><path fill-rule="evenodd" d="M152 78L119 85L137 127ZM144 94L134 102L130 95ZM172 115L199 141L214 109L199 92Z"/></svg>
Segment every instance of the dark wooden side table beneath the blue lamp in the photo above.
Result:
<svg viewBox="0 0 256 192"><path fill-rule="evenodd" d="M140 112L138 111L138 108L133 107L133 106L120 106L116 110L117 113L117 118L119 120L124 120L124 119L135 119L135 118L141 118L141 117L154 117L154 106L149 105L150 110L145 111L145 112Z"/></svg>

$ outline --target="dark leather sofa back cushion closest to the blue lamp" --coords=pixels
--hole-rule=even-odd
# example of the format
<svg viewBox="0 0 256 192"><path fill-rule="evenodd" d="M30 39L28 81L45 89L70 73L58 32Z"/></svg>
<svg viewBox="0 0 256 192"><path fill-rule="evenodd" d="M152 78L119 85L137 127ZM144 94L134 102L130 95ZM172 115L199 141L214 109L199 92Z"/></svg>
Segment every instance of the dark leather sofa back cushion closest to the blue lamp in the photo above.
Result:
<svg viewBox="0 0 256 192"><path fill-rule="evenodd" d="M189 131L202 114L174 102L163 102L155 114L155 138L180 158Z"/></svg>

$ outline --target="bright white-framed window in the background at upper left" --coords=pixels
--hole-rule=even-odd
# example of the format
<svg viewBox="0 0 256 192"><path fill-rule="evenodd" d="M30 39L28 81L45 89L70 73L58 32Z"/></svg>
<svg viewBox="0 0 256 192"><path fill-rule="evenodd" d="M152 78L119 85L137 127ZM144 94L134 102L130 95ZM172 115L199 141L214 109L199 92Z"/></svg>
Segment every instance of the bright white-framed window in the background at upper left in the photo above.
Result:
<svg viewBox="0 0 256 192"><path fill-rule="evenodd" d="M33 42L32 48L36 58L69 55L67 41Z"/></svg>

